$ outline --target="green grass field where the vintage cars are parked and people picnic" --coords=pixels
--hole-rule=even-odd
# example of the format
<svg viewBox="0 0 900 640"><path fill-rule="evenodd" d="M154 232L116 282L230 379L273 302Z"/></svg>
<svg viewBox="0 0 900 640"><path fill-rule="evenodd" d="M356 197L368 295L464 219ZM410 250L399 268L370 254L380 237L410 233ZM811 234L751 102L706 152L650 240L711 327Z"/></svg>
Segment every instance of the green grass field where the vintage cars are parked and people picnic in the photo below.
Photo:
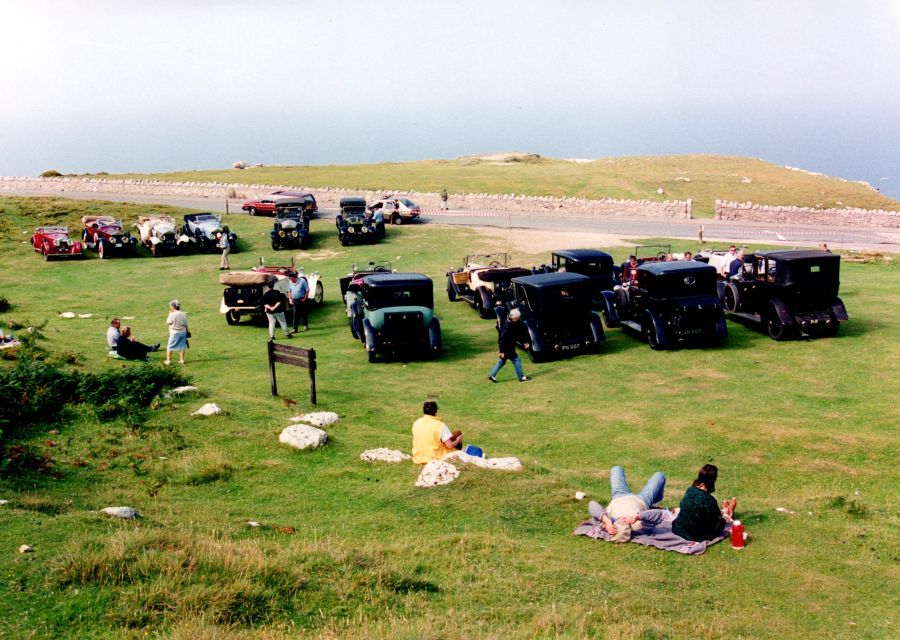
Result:
<svg viewBox="0 0 900 640"><path fill-rule="evenodd" d="M315 347L317 408L342 419L326 447L298 452L277 438L310 408L305 372L279 369L296 408L269 395L266 330L226 325L218 256L48 263L26 244L37 224L77 226L89 212L131 222L150 209L0 199L4 326L46 322L40 344L80 354L81 371L159 366L160 354L151 365L108 360L105 330L133 316L140 339L163 341L167 303L180 298L193 333L183 370L202 393L161 399L140 426L60 408L27 435L54 473L0 479L10 501L0 637L897 637L897 267L843 265L851 319L835 339L776 343L730 322L719 348L653 352L615 329L599 355L526 361L532 382L507 367L492 385L492 323L443 289L466 253L508 249L502 235L405 225L344 248L330 220L313 221L297 259L321 272L326 302L292 344ZM228 223L240 237L233 268L289 261L269 247L271 219ZM439 360L366 362L337 279L368 260L434 279ZM463 469L449 486L418 489L411 463L359 460L375 447L408 451L427 398L468 442L518 456L524 470ZM189 416L205 402L225 413ZM738 498L745 550L683 557L572 536L587 517L574 493L608 500L610 466L623 465L633 488L663 470L664 504L675 506L707 462L720 467L719 500ZM143 517L96 513L118 505ZM21 544L34 553L18 554Z"/></svg>

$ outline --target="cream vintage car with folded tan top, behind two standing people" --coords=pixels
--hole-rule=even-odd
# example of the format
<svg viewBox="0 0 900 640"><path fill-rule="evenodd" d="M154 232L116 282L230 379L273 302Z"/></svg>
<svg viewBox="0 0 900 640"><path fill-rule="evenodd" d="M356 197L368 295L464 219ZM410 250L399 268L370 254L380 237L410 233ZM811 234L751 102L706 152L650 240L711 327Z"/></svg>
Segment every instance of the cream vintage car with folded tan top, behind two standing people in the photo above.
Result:
<svg viewBox="0 0 900 640"><path fill-rule="evenodd" d="M260 264L248 271L229 271L219 276L219 283L225 285L222 292L222 303L219 305L219 313L225 314L225 322L238 324L243 316L251 318L265 315L262 306L262 297L266 292L266 284L270 279L275 279L275 288L288 295L288 274L297 273L301 278L306 278L309 290L310 305L321 305L325 297L325 288L315 271L309 275L303 269L296 269L294 261L289 266L267 267L260 258Z"/></svg>

